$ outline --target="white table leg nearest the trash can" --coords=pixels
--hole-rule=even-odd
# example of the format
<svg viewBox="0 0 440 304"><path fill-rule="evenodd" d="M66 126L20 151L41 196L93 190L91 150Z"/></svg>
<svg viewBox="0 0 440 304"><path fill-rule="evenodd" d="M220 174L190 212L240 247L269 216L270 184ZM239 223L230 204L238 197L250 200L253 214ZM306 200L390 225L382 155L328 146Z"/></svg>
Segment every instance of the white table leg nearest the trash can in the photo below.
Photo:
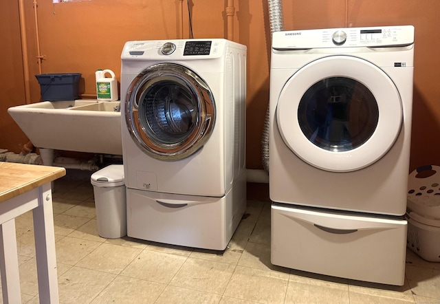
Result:
<svg viewBox="0 0 440 304"><path fill-rule="evenodd" d="M50 183L39 188L39 206L34 215L36 269L39 279L40 303L58 303L58 278Z"/></svg>

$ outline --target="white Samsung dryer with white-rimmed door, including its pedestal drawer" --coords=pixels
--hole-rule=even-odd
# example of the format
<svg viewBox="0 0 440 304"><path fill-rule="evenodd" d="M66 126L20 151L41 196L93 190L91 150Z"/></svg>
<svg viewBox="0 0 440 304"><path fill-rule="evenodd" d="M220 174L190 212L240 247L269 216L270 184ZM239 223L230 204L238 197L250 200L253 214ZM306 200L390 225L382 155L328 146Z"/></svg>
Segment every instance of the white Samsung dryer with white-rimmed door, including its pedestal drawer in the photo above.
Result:
<svg viewBox="0 0 440 304"><path fill-rule="evenodd" d="M272 39L272 263L403 284L414 28Z"/></svg>

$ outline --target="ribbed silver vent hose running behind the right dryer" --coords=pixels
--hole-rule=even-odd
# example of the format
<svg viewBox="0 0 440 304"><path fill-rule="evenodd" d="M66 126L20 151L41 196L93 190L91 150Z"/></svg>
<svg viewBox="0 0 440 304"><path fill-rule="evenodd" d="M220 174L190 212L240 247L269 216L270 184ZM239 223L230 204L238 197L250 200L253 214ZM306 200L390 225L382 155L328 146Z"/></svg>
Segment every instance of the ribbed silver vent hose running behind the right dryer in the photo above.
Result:
<svg viewBox="0 0 440 304"><path fill-rule="evenodd" d="M280 32L284 30L282 3L283 0L267 1L267 5L269 7L269 23L270 23L271 36L273 32ZM266 116L264 120L264 126L263 126L263 135L261 136L261 161L263 162L263 169L267 173L269 173L269 125L270 125L270 111L268 104L266 110Z"/></svg>

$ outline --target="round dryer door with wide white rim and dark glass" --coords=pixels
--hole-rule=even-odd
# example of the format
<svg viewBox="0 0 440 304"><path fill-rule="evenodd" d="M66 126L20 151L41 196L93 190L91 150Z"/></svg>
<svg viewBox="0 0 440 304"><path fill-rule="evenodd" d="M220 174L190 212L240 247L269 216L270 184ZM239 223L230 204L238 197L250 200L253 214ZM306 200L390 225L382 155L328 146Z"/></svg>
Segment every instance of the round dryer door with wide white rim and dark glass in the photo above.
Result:
<svg viewBox="0 0 440 304"><path fill-rule="evenodd" d="M285 144L305 162L326 171L355 171L393 146L401 99L379 67L353 56L329 56L289 78L276 122Z"/></svg>

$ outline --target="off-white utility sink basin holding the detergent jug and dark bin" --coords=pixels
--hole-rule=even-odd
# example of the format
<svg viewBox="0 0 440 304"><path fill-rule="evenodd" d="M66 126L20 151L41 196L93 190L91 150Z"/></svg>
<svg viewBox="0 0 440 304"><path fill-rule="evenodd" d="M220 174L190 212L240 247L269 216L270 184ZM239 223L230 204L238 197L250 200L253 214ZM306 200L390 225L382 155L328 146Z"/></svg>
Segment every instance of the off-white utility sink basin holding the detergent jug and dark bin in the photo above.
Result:
<svg viewBox="0 0 440 304"><path fill-rule="evenodd" d="M34 146L122 155L119 101L60 100L10 107Z"/></svg>

